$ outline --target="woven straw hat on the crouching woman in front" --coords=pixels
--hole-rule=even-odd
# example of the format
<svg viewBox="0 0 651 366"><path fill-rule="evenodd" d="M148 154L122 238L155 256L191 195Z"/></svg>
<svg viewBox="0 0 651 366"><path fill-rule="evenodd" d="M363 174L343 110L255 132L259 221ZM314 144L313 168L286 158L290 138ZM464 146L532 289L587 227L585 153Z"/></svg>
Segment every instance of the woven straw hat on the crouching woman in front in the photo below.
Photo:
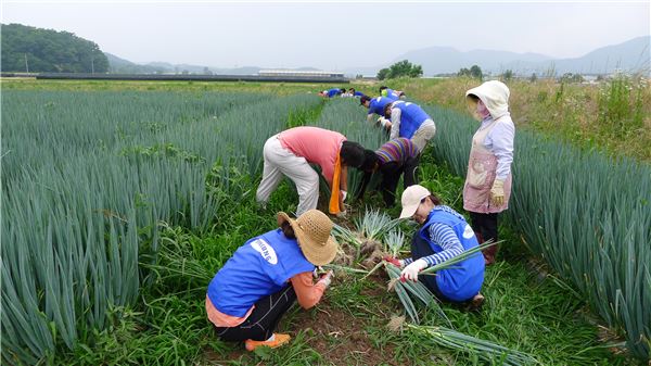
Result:
<svg viewBox="0 0 651 366"><path fill-rule="evenodd" d="M329 264L336 255L337 243L330 236L332 220L319 210L309 210L293 219L284 212L278 213L278 226L288 222L294 229L303 255L314 265Z"/></svg>

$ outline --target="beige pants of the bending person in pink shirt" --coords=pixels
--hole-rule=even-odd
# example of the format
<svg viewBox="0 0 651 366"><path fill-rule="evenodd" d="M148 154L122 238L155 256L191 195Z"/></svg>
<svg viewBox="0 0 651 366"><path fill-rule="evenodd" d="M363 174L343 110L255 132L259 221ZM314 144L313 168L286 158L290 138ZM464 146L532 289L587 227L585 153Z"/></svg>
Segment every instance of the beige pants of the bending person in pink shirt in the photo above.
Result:
<svg viewBox="0 0 651 366"><path fill-rule="evenodd" d="M271 136L263 149L265 165L263 181L258 186L256 200L267 203L269 195L276 190L278 184L285 175L298 191L298 207L296 216L304 212L316 209L319 201L319 174L309 166L305 157L296 156L293 152L282 147L278 135Z"/></svg>

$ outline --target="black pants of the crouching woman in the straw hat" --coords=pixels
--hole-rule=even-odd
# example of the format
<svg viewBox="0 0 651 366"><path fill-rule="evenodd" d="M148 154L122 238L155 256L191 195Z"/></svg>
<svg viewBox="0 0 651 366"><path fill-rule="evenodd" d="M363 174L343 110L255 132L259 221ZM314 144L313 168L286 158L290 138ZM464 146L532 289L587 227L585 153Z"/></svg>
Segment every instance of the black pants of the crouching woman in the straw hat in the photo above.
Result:
<svg viewBox="0 0 651 366"><path fill-rule="evenodd" d="M217 336L225 341L264 341L273 335L280 318L296 301L292 285L255 303L255 308L246 320L237 327L215 327Z"/></svg>

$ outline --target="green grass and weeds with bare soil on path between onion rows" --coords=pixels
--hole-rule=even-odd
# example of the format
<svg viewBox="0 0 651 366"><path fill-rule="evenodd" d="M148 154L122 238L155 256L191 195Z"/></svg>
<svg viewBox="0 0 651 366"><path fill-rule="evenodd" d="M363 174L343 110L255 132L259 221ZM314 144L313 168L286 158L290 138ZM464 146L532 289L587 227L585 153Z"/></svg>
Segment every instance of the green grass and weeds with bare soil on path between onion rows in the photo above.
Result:
<svg viewBox="0 0 651 366"><path fill-rule="evenodd" d="M102 83L93 85L82 81L77 87L81 90L140 87L105 86ZM56 88L61 85L53 83L43 87ZM3 84L3 88L5 86ZM182 85L175 87L183 88ZM232 86L232 90L238 87ZM302 125L315 118L315 114L304 111L293 114L289 123ZM460 210L463 179L452 176L432 160L423 160L421 166L423 184L442 195L445 203ZM403 315L401 307L397 296L386 292L387 279L379 275L367 278L362 274L340 275L316 308L308 312L297 308L291 311L280 326L281 331L288 331L293 337L288 346L246 353L241 344L218 340L205 316L207 281L231 253L254 235L253 228L255 234L273 228L273 214L281 210L291 211L297 202L295 190L283 182L272 194L267 209L259 209L254 203L255 182L258 179L259 177L247 177L241 182L242 187L235 199L225 198L213 213L213 217L218 219L208 228L162 225L158 238L158 245L162 248L159 262L157 266L150 266L150 286L141 291L137 303L112 308L107 315L108 328L95 331L92 343L79 343L73 351L51 355L46 363L483 364L472 353L452 352L432 344L422 333L407 329L401 333L388 331L388 319L392 315ZM378 195L369 194L363 202L356 203L356 212L363 212L360 207L368 203L375 205L380 201ZM397 217L399 207L385 212ZM349 217L349 223L355 218L357 217ZM502 226L500 237L506 239L499 254L503 261L487 269L483 290L487 303L484 310L481 313L467 313L444 305L456 329L532 353L545 365L624 365L633 362L611 352L610 343L620 341L608 338L610 336L589 315L585 301L576 296L570 286L529 265L528 253L519 234ZM422 308L421 315L423 323L433 320L435 316Z"/></svg>

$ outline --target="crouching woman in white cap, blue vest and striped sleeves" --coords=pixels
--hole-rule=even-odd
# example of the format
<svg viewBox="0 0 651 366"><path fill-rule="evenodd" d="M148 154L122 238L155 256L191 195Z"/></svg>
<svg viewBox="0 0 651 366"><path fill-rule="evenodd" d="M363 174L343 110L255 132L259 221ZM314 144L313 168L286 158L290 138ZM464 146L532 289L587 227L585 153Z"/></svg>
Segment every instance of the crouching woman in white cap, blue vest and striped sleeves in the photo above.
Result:
<svg viewBox="0 0 651 366"><path fill-rule="evenodd" d="M384 257L403 268L400 280L425 285L439 300L468 303L477 308L484 302L480 293L484 282L484 257L477 253L454 268L432 275L419 275L427 267L450 260L478 245L477 238L463 216L442 205L441 200L420 185L410 186L403 192L400 218L411 217L421 228L411 242L411 257L398 260Z"/></svg>

